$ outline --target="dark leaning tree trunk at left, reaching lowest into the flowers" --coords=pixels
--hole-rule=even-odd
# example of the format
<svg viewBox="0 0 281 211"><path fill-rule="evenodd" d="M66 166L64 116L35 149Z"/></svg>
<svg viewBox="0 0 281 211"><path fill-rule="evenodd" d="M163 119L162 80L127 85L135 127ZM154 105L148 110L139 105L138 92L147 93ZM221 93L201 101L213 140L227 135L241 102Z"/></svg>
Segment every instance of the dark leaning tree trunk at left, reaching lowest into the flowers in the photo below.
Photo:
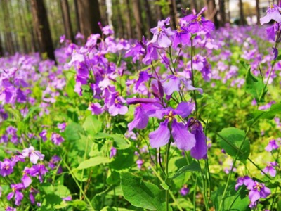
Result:
<svg viewBox="0 0 281 211"><path fill-rule="evenodd" d="M48 17L44 1L31 0L33 25L36 30L40 53L47 53L48 58L55 61L51 30L48 24Z"/></svg>

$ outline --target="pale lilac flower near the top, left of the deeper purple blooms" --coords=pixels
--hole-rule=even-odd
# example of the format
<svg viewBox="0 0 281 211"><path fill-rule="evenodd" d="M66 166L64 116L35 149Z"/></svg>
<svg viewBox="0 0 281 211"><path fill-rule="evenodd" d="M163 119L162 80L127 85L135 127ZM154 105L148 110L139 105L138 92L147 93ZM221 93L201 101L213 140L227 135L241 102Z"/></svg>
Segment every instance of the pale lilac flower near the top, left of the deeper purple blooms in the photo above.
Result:
<svg viewBox="0 0 281 211"><path fill-rule="evenodd" d="M166 18L166 20L159 20L157 27L154 27L150 30L152 32L153 37L152 40L148 42L148 44L152 43L156 46L162 48L168 48L171 46L171 39L170 36L174 35L171 28L166 28L166 25L169 25L170 18Z"/></svg>

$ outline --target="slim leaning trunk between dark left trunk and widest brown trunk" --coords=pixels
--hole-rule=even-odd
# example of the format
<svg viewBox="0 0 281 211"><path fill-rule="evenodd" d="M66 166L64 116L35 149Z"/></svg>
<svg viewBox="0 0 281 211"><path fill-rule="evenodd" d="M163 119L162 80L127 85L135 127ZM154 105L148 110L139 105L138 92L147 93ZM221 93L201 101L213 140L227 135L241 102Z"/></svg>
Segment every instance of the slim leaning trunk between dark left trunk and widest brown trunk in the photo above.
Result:
<svg viewBox="0 0 281 211"><path fill-rule="evenodd" d="M60 0L60 7L63 15L63 26L65 27L65 37L74 42L72 24L70 20L70 8L67 0Z"/></svg>

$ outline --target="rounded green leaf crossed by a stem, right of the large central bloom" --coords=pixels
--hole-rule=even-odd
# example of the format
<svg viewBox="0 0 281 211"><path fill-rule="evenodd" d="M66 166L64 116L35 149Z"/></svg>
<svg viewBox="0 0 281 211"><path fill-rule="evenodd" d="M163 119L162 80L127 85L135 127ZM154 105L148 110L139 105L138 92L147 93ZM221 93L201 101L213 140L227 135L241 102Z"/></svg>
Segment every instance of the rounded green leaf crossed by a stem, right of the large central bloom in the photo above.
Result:
<svg viewBox="0 0 281 211"><path fill-rule="evenodd" d="M221 148L223 148L228 155L235 157L243 142L245 132L235 127L228 127L219 132L218 135L218 143ZM249 139L246 138L237 159L241 161L247 160L249 154L250 143Z"/></svg>

